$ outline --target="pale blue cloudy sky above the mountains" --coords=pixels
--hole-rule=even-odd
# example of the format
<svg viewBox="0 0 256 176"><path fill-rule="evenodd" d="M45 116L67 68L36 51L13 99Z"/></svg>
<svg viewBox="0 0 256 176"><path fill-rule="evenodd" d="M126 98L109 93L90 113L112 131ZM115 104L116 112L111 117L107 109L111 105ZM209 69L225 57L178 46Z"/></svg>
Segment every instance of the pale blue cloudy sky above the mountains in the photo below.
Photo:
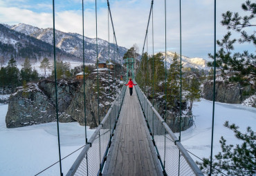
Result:
<svg viewBox="0 0 256 176"><path fill-rule="evenodd" d="M164 0L154 1L153 30L152 20L148 30L149 54L165 50L165 6ZM244 14L241 0L217 1L217 39L226 34L221 26L221 14L230 10ZM147 28L151 0L109 0L113 25L118 46L131 48L136 43L142 52ZM179 1L167 0L167 50L187 57L208 59L208 53L214 52L214 0L181 1L181 45ZM95 38L95 0L84 0L84 35ZM98 37L108 40L107 0L97 1ZM255 22L255 21L254 21ZM53 1L51 0L0 0L0 23L14 25L26 23L39 28L53 27ZM55 28L64 32L76 32L82 35L82 0L55 0ZM249 29L253 31L253 29ZM255 30L255 29L254 29ZM154 35L152 35L154 33ZM152 37L154 36L154 38ZM232 37L239 37L232 32ZM110 26L110 42L113 31ZM237 44L235 50L255 52L252 43Z"/></svg>

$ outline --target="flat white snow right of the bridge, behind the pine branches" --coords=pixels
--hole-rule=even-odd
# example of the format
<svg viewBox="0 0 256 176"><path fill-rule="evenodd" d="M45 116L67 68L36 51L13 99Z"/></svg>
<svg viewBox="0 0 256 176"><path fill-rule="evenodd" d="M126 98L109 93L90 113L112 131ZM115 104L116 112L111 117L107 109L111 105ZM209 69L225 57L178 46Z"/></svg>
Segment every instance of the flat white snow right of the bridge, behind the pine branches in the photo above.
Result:
<svg viewBox="0 0 256 176"><path fill-rule="evenodd" d="M181 133L181 143L198 157L208 158L210 157L212 134L212 101L201 99L201 101L195 102L193 106L195 126ZM241 144L241 141L235 138L232 130L223 126L225 121L236 124L243 133L246 132L248 126L256 131L256 108L242 106L241 104L215 103L214 155L221 151L221 144L219 144L221 136L227 140L227 144ZM176 134L176 136L179 136L179 134ZM192 158L199 160L193 156Z"/></svg>

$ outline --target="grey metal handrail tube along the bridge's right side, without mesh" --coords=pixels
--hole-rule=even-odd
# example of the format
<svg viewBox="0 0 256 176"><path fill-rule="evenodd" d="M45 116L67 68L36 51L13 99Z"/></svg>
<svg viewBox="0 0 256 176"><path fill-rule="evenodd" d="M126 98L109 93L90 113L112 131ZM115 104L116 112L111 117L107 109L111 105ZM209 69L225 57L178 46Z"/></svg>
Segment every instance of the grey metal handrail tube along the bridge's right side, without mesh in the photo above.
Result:
<svg viewBox="0 0 256 176"><path fill-rule="evenodd" d="M149 101L149 99L147 99L147 97L145 96L144 92L140 89L139 86L136 86L136 92L138 95L138 99L140 101L140 106L141 108L143 108L143 104L141 102L141 99L144 98L147 101L147 104L149 105L149 107L152 109L152 111L154 112L154 115L156 115L156 117L158 117L158 120L161 121L161 123L163 124L166 133L172 138L172 140L174 141L174 143L176 144L177 148L179 149L179 151L181 152L181 155L183 155L183 157L185 158L186 162L188 163L188 165L190 166L190 168L193 170L194 175L203 175L202 171L199 169L199 167L196 165L196 163L194 162L194 160L192 159L192 157L190 157L190 155L188 154L188 152L185 150L185 148L183 147L183 145L181 144L181 141L179 139L177 139L177 137L174 135L174 133L172 132L172 130L170 129L170 127L165 123L164 119L161 117L161 115L159 115L159 113L157 112L157 110L154 108L154 106L152 106L151 102ZM149 130L150 127L148 126ZM153 127L154 128L154 127ZM157 147L157 146L156 146ZM162 161L163 162L163 161ZM163 168L164 170L165 168Z"/></svg>

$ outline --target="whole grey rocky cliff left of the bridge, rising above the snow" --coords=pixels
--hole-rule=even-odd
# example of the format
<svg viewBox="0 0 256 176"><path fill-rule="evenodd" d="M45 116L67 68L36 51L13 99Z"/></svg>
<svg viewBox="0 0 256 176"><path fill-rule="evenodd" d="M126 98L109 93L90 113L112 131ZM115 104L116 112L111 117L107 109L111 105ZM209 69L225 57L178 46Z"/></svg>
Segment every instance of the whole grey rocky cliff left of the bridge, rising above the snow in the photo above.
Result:
<svg viewBox="0 0 256 176"><path fill-rule="evenodd" d="M109 109L109 103L115 99L120 84L112 76L100 74L100 120ZM111 86L109 87L109 83ZM85 82L86 125L98 126L97 77L89 75ZM57 82L57 99L60 122L78 121L84 125L84 86L77 80ZM108 96L109 95L109 96ZM55 82L43 80L30 83L26 88L19 87L10 95L6 126L16 128L33 124L56 121Z"/></svg>

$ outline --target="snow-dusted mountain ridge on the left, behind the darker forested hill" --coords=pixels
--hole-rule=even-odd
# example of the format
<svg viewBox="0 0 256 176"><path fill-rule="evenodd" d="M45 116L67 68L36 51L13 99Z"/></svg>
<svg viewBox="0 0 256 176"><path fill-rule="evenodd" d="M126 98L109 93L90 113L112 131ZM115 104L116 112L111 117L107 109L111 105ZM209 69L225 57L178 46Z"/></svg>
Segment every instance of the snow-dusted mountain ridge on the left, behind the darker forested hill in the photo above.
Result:
<svg viewBox="0 0 256 176"><path fill-rule="evenodd" d="M12 30L17 32L24 33L25 35L29 35L31 37L35 37L36 39L42 40L46 43L50 43L53 45L53 29L46 28L40 29L35 26L30 26L24 23L19 23L18 25L11 26ZM75 55L82 59L82 35L76 33L66 33L60 30L55 30L55 42L57 48L60 48L64 52L67 52L71 55ZM89 37L84 37L85 41L85 55L86 59L89 62L96 61L96 39L91 39ZM118 47L120 52L120 57L122 57L127 48ZM116 54L114 57L114 51L116 50L116 46L113 43L110 43L110 58L119 61L118 55ZM102 39L98 39L98 54L99 59L102 61L106 61L108 59L108 42ZM122 59L122 58L120 58Z"/></svg>

